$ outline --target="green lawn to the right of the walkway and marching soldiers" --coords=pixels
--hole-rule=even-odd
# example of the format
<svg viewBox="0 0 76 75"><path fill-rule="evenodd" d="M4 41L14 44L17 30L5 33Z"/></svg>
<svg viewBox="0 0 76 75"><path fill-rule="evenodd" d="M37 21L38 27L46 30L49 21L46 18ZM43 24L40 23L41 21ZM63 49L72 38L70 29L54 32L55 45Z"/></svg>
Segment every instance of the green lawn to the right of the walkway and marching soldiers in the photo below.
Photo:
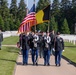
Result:
<svg viewBox="0 0 76 75"><path fill-rule="evenodd" d="M63 55L76 63L76 45L65 42L65 46L68 47L65 47L65 51L63 52Z"/></svg>

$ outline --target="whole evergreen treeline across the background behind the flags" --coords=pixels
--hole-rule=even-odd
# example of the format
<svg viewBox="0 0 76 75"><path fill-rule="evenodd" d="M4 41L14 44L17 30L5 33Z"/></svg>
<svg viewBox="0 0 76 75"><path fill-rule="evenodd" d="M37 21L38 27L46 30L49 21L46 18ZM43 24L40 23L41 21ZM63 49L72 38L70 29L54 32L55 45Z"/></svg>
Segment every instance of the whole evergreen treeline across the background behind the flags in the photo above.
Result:
<svg viewBox="0 0 76 75"><path fill-rule="evenodd" d="M50 22L37 25L37 30L60 31L63 34L75 34L76 24L76 0L39 0L36 6L36 12L44 9L50 3ZM32 4L33 5L33 4ZM7 0L0 0L0 29L18 30L20 23L26 16L26 2L20 0L11 0L8 7ZM34 27L32 27L34 29Z"/></svg>

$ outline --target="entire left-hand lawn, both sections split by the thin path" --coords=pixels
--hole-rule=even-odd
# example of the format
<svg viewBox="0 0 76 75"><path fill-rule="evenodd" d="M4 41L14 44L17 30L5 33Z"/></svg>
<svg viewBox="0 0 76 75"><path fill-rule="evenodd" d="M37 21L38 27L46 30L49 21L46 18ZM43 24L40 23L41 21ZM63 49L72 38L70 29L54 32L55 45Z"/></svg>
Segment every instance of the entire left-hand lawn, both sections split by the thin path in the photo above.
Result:
<svg viewBox="0 0 76 75"><path fill-rule="evenodd" d="M18 36L4 38L2 45L16 45ZM4 47L0 50L0 75L12 75L14 72L19 49Z"/></svg>

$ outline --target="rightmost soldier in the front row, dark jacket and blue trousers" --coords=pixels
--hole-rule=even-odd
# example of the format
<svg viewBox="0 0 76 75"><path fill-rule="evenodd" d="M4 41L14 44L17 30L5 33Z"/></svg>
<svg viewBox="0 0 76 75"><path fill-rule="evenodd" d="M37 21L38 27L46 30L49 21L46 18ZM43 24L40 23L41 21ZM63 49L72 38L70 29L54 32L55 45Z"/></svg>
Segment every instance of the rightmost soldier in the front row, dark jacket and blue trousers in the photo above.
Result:
<svg viewBox="0 0 76 75"><path fill-rule="evenodd" d="M57 33L57 37L55 39L55 64L56 66L61 66L61 56L62 51L64 50L64 41L63 38L59 36Z"/></svg>

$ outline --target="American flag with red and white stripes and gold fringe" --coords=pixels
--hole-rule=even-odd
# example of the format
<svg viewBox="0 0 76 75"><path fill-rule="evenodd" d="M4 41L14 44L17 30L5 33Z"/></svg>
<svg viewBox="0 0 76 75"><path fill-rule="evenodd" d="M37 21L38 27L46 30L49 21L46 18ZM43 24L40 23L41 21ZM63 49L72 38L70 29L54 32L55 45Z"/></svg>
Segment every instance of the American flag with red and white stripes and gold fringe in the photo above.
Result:
<svg viewBox="0 0 76 75"><path fill-rule="evenodd" d="M33 4L32 8L28 12L27 16L23 19L20 27L18 29L18 33L23 33L25 31L30 31L31 26L36 24L35 17L35 4Z"/></svg>

